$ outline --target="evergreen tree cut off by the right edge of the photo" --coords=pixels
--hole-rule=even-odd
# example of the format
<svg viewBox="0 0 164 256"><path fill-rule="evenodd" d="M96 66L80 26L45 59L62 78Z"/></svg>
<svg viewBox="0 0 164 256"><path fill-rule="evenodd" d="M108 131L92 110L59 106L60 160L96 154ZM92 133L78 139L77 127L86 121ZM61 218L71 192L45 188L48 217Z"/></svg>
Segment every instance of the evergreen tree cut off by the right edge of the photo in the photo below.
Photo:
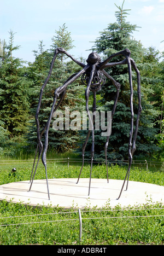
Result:
<svg viewBox="0 0 164 256"><path fill-rule="evenodd" d="M147 88L149 94L147 95L148 100L151 102L153 108L157 114L154 119L155 127L158 131L156 136L158 142L157 145L162 149L161 152L157 152L159 158L163 151L163 104L164 104L164 83L163 83L163 61L161 60L161 53L154 47L149 47L144 55L143 62L147 65L143 66L142 75L147 77Z"/></svg>

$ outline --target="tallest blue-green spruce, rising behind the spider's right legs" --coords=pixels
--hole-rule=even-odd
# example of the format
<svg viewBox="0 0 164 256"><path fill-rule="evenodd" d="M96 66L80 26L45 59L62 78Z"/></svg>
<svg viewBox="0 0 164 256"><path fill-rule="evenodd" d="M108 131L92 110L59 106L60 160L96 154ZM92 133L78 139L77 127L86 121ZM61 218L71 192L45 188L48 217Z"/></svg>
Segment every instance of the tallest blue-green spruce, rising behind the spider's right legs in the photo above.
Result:
<svg viewBox="0 0 164 256"><path fill-rule="evenodd" d="M127 11L122 7L116 7L119 9L115 12L117 22L109 24L106 30L100 32L100 37L96 39L95 46L92 50L97 51L99 54L103 54L103 58L107 59L110 55L121 51L123 49L130 49L131 57L137 63L138 69L140 70L142 77L142 115L140 117L138 138L137 138L137 150L136 155L151 155L153 151L157 149L154 144L154 136L156 130L153 127L153 120L156 112L147 100L148 88L146 77L142 76L142 69L144 66L143 56L144 49L140 42L137 42L131 37L133 31L137 30L137 25L131 25L130 22L126 22ZM123 56L112 59L112 62L123 60ZM128 136L130 132L131 122L131 110L130 110L130 85L128 83L128 70L127 65L114 66L110 69L106 69L117 82L121 84L121 90L119 95L119 101L116 107L116 111L113 117L112 123L112 135L110 135L109 146L108 146L108 159L122 159L127 158L128 154ZM137 99L137 80L136 72L132 71L133 77L133 107L134 107L134 121L137 117L138 99ZM144 87L145 86L145 87ZM114 98L116 89L113 84L107 80L107 83L101 90L101 106L99 110L109 111L112 110L114 104ZM135 124L135 123L134 123ZM95 153L97 156L104 158L104 144L106 138L101 137L99 133L95 132ZM90 149L90 144L86 148ZM87 153L88 154L88 153ZM95 154L96 157L96 154Z"/></svg>

